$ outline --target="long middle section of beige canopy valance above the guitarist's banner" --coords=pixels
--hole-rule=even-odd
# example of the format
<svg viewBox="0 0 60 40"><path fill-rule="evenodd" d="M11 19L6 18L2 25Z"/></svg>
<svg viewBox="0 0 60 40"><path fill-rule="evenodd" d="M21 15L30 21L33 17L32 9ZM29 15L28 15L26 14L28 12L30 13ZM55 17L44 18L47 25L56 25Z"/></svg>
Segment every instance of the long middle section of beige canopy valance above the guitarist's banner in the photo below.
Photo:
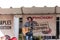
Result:
<svg viewBox="0 0 60 40"><path fill-rule="evenodd" d="M54 13L55 7L32 7L32 8L23 8L24 14L34 14L34 13Z"/></svg>

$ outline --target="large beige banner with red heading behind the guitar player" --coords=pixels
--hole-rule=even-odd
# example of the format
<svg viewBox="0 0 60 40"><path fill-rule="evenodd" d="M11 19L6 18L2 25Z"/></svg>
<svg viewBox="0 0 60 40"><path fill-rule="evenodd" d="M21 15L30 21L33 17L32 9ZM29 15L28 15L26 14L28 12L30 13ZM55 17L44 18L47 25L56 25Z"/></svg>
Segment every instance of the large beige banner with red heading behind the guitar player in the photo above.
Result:
<svg viewBox="0 0 60 40"><path fill-rule="evenodd" d="M33 23L32 26L30 26L30 20ZM23 15L23 27L29 26L33 27L34 36L56 36L55 15Z"/></svg>

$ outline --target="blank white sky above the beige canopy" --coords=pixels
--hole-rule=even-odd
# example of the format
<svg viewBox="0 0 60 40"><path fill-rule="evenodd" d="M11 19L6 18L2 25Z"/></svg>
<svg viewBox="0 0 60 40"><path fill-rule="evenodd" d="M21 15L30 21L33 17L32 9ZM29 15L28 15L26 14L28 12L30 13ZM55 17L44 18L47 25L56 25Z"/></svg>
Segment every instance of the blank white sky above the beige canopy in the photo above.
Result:
<svg viewBox="0 0 60 40"><path fill-rule="evenodd" d="M19 8L19 7L60 7L60 0L0 0L0 7L1 8Z"/></svg>

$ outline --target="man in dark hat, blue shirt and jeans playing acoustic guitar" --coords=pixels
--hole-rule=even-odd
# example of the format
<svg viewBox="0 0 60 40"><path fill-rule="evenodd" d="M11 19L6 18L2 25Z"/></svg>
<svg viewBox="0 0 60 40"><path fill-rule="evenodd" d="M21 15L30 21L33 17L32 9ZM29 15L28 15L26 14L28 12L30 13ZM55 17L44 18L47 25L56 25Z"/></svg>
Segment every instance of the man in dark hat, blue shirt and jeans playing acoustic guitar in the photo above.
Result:
<svg viewBox="0 0 60 40"><path fill-rule="evenodd" d="M26 40L33 40L33 27L38 26L38 23L36 21L33 21L32 17L27 17L27 22L24 25L25 27L29 27L30 31L26 33Z"/></svg>

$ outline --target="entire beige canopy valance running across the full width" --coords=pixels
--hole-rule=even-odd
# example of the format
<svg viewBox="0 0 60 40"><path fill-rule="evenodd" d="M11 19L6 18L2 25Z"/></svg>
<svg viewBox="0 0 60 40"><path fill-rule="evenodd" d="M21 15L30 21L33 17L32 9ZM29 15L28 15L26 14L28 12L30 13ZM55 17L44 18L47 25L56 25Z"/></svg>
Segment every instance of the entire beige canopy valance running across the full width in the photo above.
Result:
<svg viewBox="0 0 60 40"><path fill-rule="evenodd" d="M60 7L0 8L0 14L54 14L55 11L60 13Z"/></svg>

